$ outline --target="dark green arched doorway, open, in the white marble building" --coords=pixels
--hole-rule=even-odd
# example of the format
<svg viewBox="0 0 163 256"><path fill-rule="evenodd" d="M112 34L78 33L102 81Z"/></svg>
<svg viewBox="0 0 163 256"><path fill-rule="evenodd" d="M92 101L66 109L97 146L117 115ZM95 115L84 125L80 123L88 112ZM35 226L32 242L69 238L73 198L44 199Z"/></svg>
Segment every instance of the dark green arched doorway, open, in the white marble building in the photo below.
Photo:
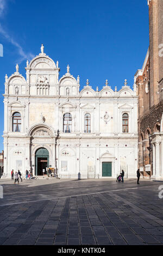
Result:
<svg viewBox="0 0 163 256"><path fill-rule="evenodd" d="M37 149L35 153L35 175L42 176L47 174L49 167L49 153L45 148Z"/></svg>

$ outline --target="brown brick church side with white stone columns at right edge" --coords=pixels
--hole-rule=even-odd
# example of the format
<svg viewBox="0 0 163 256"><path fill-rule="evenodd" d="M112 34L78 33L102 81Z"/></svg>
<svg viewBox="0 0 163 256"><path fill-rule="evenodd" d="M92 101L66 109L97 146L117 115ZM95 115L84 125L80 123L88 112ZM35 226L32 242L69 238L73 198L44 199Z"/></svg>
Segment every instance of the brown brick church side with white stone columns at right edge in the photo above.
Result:
<svg viewBox="0 0 163 256"><path fill-rule="evenodd" d="M163 177L163 1L148 0L149 48L135 74L139 95L139 168L143 176Z"/></svg>

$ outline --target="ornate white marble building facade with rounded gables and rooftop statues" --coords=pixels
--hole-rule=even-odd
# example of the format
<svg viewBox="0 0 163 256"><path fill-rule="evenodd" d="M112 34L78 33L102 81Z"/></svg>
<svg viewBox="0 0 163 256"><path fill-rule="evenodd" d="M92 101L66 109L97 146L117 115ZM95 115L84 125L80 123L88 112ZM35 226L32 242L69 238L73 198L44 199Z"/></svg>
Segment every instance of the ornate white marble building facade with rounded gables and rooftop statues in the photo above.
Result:
<svg viewBox="0 0 163 256"><path fill-rule="evenodd" d="M136 177L138 99L127 81L114 91L106 80L103 89L95 91L87 80L80 91L79 76L74 78L67 66L59 79L58 62L43 52L43 46L39 56L27 61L26 71L25 79L17 65L13 75L5 76L4 178L12 169L37 174L39 148L48 150L48 166L55 167L60 178L106 178L104 162L111 163L112 178L121 169L128 178ZM15 113L21 120L18 129L13 126ZM122 132L125 113L128 132ZM70 126L65 126L71 132L64 132L64 114L71 115Z"/></svg>

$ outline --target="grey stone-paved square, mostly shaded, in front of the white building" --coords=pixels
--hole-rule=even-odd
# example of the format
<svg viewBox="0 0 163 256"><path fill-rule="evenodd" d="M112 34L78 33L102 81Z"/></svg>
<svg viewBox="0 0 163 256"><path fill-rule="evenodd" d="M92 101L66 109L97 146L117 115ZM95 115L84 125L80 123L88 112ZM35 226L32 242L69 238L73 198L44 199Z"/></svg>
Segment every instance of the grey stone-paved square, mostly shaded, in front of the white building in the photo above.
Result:
<svg viewBox="0 0 163 256"><path fill-rule="evenodd" d="M159 182L0 180L0 245L163 245Z"/></svg>

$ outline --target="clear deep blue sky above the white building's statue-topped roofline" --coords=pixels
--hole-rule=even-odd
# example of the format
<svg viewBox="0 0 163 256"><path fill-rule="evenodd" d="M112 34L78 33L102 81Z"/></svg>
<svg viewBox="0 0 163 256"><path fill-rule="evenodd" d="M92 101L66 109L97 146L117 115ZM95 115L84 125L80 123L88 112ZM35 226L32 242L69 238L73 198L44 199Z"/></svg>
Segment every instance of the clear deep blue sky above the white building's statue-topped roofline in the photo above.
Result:
<svg viewBox="0 0 163 256"><path fill-rule="evenodd" d="M80 76L80 86L89 79L93 89L105 85L133 88L149 45L146 0L0 0L0 151L3 149L3 96L5 74L26 77L26 60L45 53L59 61L60 77Z"/></svg>

